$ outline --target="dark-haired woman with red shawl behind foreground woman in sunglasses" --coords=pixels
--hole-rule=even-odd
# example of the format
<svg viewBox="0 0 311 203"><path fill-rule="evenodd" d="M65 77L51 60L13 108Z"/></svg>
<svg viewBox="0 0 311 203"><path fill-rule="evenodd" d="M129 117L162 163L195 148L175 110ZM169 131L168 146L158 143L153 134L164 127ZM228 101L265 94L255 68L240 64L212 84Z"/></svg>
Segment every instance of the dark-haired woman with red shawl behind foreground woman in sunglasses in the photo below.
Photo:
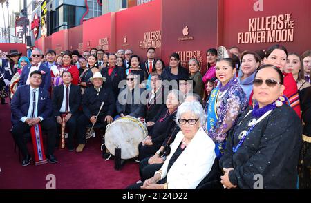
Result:
<svg viewBox="0 0 311 203"><path fill-rule="evenodd" d="M265 64L270 64L279 68L284 75L284 96L290 101L290 106L296 111L297 115L301 117L301 110L299 104L299 95L297 84L292 76L292 73L284 72L286 62L288 61L288 51L282 45L276 44L268 48L265 58L263 59Z"/></svg>

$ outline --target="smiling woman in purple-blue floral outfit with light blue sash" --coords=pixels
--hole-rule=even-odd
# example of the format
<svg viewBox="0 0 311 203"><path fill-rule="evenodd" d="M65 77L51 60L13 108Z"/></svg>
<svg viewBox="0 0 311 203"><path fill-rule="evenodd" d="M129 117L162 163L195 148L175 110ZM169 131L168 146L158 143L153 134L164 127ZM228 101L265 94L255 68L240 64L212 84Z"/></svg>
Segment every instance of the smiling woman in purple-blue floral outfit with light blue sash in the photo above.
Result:
<svg viewBox="0 0 311 203"><path fill-rule="evenodd" d="M247 106L246 95L235 77L233 59L223 58L216 62L218 85L211 91L206 105L207 135L214 140L218 158L223 155L227 132L234 126L238 115Z"/></svg>

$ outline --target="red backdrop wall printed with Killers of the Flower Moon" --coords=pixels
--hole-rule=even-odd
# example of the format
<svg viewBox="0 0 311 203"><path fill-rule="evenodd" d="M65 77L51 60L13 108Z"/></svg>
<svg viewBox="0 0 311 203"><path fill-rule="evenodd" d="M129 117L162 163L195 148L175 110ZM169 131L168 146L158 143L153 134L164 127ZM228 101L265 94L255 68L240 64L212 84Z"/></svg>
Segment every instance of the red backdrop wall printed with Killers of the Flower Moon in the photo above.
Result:
<svg viewBox="0 0 311 203"><path fill-rule="evenodd" d="M310 49L309 8L308 0L155 0L90 19L82 26L38 39L35 45L58 53L131 48L142 60L153 46L165 62L172 52L178 52L184 66L195 57L204 71L208 48L259 50L282 43L290 52Z"/></svg>

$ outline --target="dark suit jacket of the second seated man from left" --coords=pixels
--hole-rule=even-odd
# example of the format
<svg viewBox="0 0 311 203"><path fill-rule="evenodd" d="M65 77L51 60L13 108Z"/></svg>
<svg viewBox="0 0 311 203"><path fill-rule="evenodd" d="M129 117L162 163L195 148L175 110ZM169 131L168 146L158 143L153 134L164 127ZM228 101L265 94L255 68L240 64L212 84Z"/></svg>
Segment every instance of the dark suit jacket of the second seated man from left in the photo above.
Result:
<svg viewBox="0 0 311 203"><path fill-rule="evenodd" d="M53 104L53 115L60 116L59 110L62 107L64 99L64 85L55 86L53 88L52 104ZM70 113L76 115L81 105L81 89L79 86L73 84L70 85L69 90L69 108Z"/></svg>

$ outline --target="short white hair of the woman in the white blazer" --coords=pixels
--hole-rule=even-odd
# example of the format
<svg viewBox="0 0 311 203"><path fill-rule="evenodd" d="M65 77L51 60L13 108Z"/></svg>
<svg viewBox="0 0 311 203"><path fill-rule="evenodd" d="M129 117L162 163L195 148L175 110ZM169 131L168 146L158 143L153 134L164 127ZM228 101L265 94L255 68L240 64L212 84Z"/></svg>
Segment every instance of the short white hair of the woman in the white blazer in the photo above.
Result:
<svg viewBox="0 0 311 203"><path fill-rule="evenodd" d="M180 126L178 119L180 119L180 117L184 113L193 113L200 119L201 126L205 124L205 113L202 105L198 101L186 101L178 107L176 113L176 123L178 124L178 126Z"/></svg>

